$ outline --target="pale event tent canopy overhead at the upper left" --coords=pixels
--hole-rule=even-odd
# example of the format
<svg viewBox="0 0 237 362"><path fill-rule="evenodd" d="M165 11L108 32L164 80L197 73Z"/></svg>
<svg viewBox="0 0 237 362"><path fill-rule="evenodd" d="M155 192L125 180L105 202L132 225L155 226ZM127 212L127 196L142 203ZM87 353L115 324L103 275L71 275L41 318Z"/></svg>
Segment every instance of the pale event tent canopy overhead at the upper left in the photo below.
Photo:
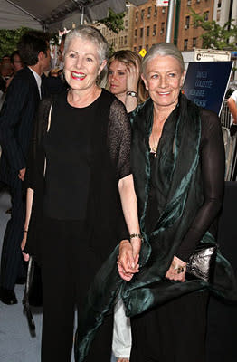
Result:
<svg viewBox="0 0 237 362"><path fill-rule="evenodd" d="M108 15L109 7L115 13L124 12L126 0L0 0L0 28L16 29L27 26L34 29L62 30L71 24L80 24L81 16L89 21ZM129 0L141 5L146 0Z"/></svg>

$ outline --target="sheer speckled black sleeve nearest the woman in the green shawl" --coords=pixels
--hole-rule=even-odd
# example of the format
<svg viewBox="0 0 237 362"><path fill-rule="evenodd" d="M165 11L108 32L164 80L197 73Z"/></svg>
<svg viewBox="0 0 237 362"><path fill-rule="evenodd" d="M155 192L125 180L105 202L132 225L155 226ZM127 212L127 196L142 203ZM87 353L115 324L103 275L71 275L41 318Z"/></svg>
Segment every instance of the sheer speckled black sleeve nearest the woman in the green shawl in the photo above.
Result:
<svg viewBox="0 0 237 362"><path fill-rule="evenodd" d="M130 169L130 143L131 127L128 113L120 100L114 100L109 112L109 153L118 178L131 173Z"/></svg>

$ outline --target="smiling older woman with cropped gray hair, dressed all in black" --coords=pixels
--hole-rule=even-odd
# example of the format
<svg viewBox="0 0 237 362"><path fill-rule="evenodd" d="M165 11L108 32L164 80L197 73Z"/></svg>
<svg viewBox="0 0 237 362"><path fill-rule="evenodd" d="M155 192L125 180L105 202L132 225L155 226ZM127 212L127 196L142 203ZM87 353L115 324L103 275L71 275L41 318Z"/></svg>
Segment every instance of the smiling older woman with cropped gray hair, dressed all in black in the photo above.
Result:
<svg viewBox="0 0 237 362"><path fill-rule="evenodd" d="M102 262L139 232L127 111L97 86L107 54L97 29L71 31L64 47L70 88L43 100L35 120L22 248L42 268L43 362L71 360L75 307L81 318ZM109 361L112 319L105 319L86 361Z"/></svg>

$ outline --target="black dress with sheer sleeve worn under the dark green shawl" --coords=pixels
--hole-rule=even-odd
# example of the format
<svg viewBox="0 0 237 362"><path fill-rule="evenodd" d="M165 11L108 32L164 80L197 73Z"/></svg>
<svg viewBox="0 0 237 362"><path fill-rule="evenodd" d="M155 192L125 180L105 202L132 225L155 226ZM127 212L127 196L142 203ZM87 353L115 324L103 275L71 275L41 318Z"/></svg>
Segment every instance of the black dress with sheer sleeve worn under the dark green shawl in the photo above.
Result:
<svg viewBox="0 0 237 362"><path fill-rule="evenodd" d="M161 142L170 142L172 122L177 118L178 108L166 120ZM204 186L204 204L200 207L188 233L186 233L176 256L187 262L201 240L206 229L211 225L216 233L217 214L223 199L223 140L218 119L210 112L201 112L200 162ZM160 146L159 143L159 146ZM157 148L157 153L159 147ZM166 162L174 161L173 154ZM150 154L151 179L150 195L147 205L146 228L152 233L156 228L159 209L166 202L164 189L159 190L157 199L156 162L154 154ZM166 176L164 176L166 177ZM161 306L131 319L132 351L131 362L204 362L205 360L205 326L207 291L193 292L171 300Z"/></svg>

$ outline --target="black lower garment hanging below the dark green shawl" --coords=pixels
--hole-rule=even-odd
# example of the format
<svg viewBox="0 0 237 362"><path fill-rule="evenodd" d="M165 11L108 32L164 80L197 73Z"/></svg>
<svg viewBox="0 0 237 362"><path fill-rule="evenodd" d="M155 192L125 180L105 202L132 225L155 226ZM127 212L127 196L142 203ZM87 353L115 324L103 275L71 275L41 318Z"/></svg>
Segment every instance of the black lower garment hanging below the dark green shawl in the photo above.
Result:
<svg viewBox="0 0 237 362"><path fill-rule="evenodd" d="M204 362L207 300L193 292L132 318L130 362Z"/></svg>

